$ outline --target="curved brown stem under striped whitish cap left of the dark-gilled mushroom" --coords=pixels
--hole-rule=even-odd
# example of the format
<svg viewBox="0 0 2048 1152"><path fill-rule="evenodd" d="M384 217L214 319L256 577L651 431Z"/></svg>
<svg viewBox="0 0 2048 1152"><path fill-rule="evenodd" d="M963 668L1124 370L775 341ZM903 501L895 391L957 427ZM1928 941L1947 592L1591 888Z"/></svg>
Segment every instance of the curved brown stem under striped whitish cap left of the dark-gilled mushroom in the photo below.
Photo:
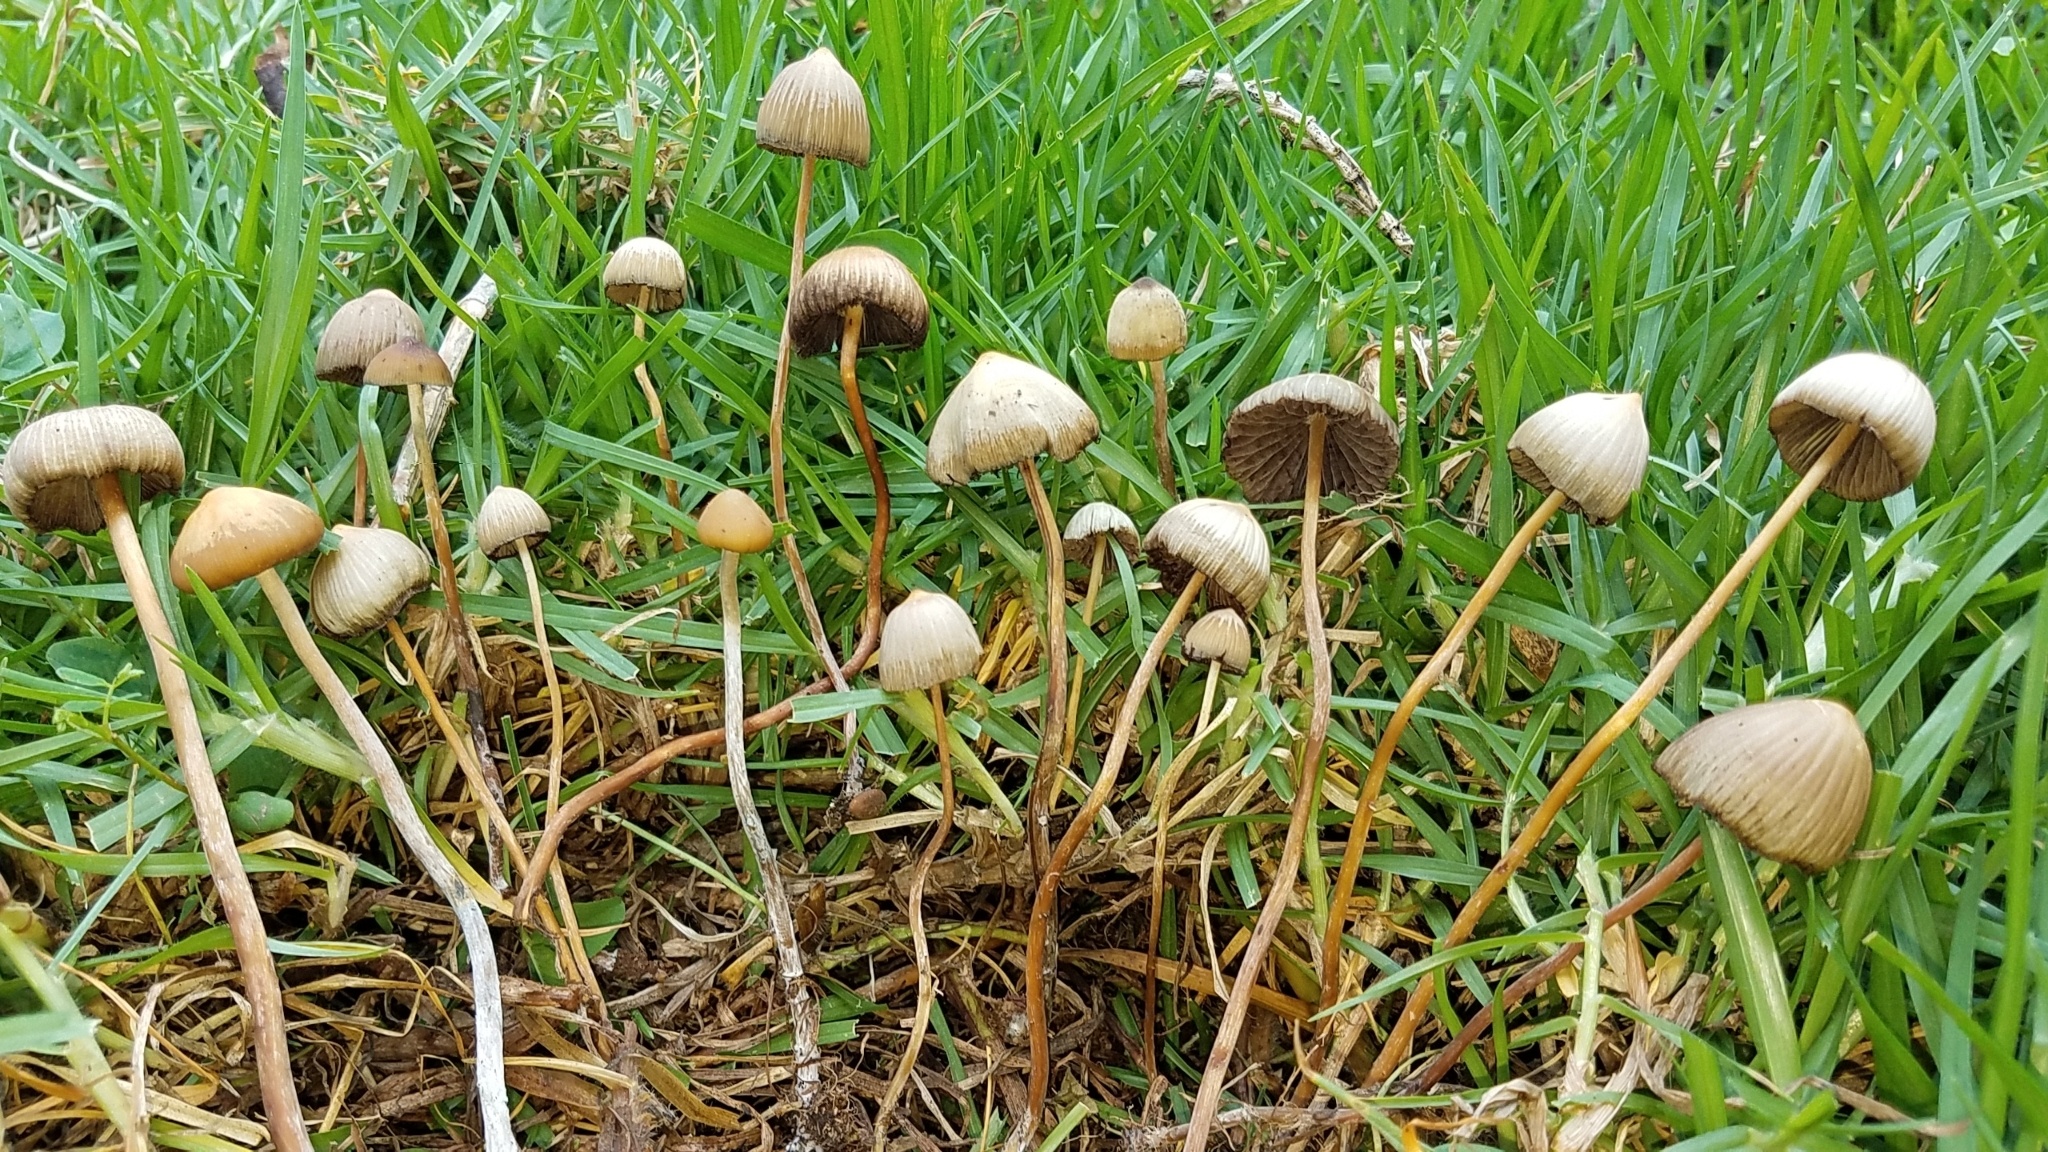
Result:
<svg viewBox="0 0 2048 1152"><path fill-rule="evenodd" d="M1032 476L1032 471L1026 467L1024 476ZM1055 541L1053 547L1057 547L1057 533L1049 533L1047 539ZM1110 732L1110 748L1102 754L1102 773L1096 775L1096 787L1087 789L1087 797L1075 810L1067 832L1061 834L1059 845L1047 857L1044 871L1038 873L1038 892L1032 894L1030 904L1030 931L1024 937L1024 1017L1030 1021L1030 1084L1024 1095L1026 1105L1024 1115L1018 1117L1018 1129L1026 1146L1038 1127L1038 1113L1044 1111L1044 1095L1053 1082L1053 1033L1049 1031L1044 984L1047 937L1053 931L1051 920L1059 906L1059 879L1067 871L1067 861L1073 859L1081 840L1087 838L1096 816L1102 814L1102 808L1116 791L1116 775L1124 767L1124 752L1130 750L1130 732L1137 728L1139 705L1145 703L1145 689L1151 687L1153 668L1159 666L1159 656L1165 654L1165 644L1180 629L1180 621L1188 617L1188 607L1194 605L1194 596L1202 590L1204 580L1200 570L1188 576L1188 586L1180 590L1180 599L1174 601L1165 619L1159 621L1159 631L1145 646L1145 656L1139 658L1139 666L1130 672L1130 687L1124 689L1124 705L1116 713L1116 730Z"/></svg>

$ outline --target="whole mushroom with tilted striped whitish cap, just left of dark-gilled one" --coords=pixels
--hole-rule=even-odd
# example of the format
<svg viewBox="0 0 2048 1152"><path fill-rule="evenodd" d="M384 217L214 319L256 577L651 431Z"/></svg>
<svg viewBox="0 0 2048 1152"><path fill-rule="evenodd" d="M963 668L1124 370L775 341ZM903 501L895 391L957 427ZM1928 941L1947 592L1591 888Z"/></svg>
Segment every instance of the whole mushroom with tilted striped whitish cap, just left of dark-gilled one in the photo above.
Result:
<svg viewBox="0 0 2048 1152"><path fill-rule="evenodd" d="M1047 1031L1047 941L1053 933L1053 918L1059 910L1059 881L1067 861L1087 838L1096 816L1116 793L1116 777L1130 750L1130 734L1137 728L1139 703L1151 687L1153 668L1165 652L1167 640L1188 617L1194 596L1208 586L1210 601L1227 607L1251 607L1266 594L1272 578L1272 551L1266 543L1266 529L1251 515L1251 508L1231 500L1182 500L1167 508L1145 535L1145 558L1159 570L1159 582L1174 592L1174 607L1159 621L1159 631L1130 672L1130 687L1124 689L1124 703L1116 711L1116 728L1110 732L1110 746L1102 754L1102 771L1087 791L1073 822L1061 834L1059 845L1047 859L1038 875L1038 890L1032 894L1030 931L1024 937L1024 1013L1030 1021L1030 1084L1026 1088L1024 1117L1018 1121L1026 1144L1044 1111L1044 1095L1053 1076L1053 1045Z"/></svg>

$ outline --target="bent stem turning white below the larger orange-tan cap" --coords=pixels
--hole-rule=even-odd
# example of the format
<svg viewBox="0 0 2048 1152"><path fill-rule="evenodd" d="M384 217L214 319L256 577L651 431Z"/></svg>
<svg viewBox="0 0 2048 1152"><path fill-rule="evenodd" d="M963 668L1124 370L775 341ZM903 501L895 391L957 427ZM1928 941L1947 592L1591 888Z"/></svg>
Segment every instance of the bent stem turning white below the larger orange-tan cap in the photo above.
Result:
<svg viewBox="0 0 2048 1152"><path fill-rule="evenodd" d="M348 738L354 740L356 750L369 763L371 775L377 779L377 789L385 793L385 810L391 814L391 826L397 828L397 836L406 840L406 849L420 861L420 871L426 873L434 888L440 890L440 898L455 910L463 943L469 945L469 1000L477 1021L477 1115L483 1123L483 1146L489 1152L514 1152L518 1138L512 1136L512 1105L506 1097L504 994L498 990L498 945L492 943L492 927L483 920L483 906L477 904L477 896L469 892L463 877L455 873L449 857L440 853L440 845L428 832L426 820L414 808L406 777L391 763L391 752L385 750L383 740L371 728L369 717L362 715L356 699L348 695L342 678L334 674L334 666L319 652L319 644L307 631L305 617L299 615L299 605L291 599L285 582L279 580L276 570L264 568L256 574L256 582L270 601L276 621L285 625L285 640L291 642L291 650L299 654L299 662L313 676L319 695L326 697L328 707L340 717L342 728L348 730Z"/></svg>

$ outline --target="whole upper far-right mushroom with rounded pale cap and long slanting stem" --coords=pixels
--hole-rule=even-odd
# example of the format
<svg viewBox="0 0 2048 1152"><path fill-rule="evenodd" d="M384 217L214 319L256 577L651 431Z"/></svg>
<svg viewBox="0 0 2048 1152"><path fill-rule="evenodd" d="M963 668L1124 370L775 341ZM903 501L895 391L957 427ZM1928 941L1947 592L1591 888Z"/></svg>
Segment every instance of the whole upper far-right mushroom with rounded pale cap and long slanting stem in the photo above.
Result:
<svg viewBox="0 0 2048 1152"><path fill-rule="evenodd" d="M1579 748L1579 754L1565 765L1548 795L1530 814L1528 824L1507 847L1507 853L1487 871L1466 898L1450 931L1438 941L1440 949L1456 947L1470 939L1473 929L1485 914L1493 898L1507 888L1507 879L1534 853L1550 824L1556 822L1565 804L1577 791L1599 756L1606 754L1622 734L1632 732L1636 719L1655 701L1677 666L1692 648L1720 619L1722 609L1735 596L1755 566L1769 556L1778 535L1798 517L1806 500L1829 490L1843 500L1880 500L1892 492L1903 492L1919 478L1933 451L1935 414L1927 385L1907 365L1876 353L1841 353L1829 357L1778 394L1772 402L1772 435L1778 439L1778 455L1786 467L1800 474L1798 484L1778 504L1772 519L1757 529L1749 547L1729 566L1729 572L1708 592L1706 603L1686 621L1686 627L1671 637L1671 644L1657 656L1645 672L1636 691L1622 701L1614 715ZM1415 1027L1430 1011L1436 992L1434 974L1425 974L1409 992L1401 1019L1395 1021L1372 1062L1368 1082L1384 1082L1397 1064L1407 1058L1415 1039Z"/></svg>

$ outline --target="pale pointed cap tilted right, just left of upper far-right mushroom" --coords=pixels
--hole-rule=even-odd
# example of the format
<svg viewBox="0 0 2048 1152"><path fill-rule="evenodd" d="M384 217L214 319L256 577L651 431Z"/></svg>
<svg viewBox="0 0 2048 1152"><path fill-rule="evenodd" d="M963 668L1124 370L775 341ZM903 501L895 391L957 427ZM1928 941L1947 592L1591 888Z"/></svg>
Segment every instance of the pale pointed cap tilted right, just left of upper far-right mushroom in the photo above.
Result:
<svg viewBox="0 0 2048 1152"><path fill-rule="evenodd" d="M1565 510L1610 525L1651 463L1642 394L1579 392L1546 404L1507 439L1507 461L1544 494L1563 492Z"/></svg>

